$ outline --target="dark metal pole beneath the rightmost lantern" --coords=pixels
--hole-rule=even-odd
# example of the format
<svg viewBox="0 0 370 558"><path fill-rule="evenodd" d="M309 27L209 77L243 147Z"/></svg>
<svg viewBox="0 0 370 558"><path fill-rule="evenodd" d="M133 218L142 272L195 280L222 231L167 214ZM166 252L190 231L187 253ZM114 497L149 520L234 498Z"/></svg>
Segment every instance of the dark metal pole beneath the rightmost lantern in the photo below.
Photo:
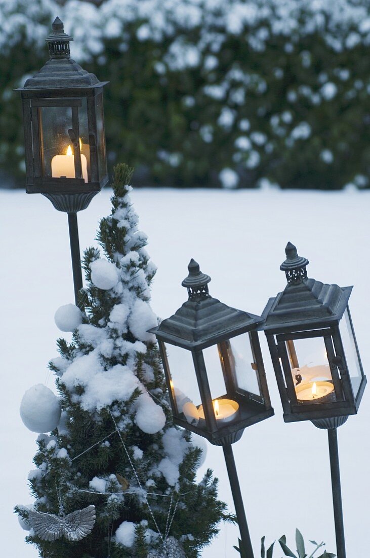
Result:
<svg viewBox="0 0 370 558"><path fill-rule="evenodd" d="M328 429L330 471L332 473L334 522L336 525L337 557L346 558L346 543L344 541L344 524L341 492L341 473L339 471L337 429Z"/></svg>

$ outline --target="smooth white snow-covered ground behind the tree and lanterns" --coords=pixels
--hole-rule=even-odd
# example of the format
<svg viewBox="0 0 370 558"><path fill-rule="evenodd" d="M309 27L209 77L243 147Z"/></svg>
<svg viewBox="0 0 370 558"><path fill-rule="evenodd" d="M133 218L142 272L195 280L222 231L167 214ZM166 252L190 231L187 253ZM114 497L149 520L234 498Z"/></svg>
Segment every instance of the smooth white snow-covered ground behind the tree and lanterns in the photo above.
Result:
<svg viewBox="0 0 370 558"><path fill-rule="evenodd" d="M79 214L81 248L93 243L97 220L110 211L109 196L109 191L98 194ZM186 300L180 283L191 257L211 275L211 295L260 314L268 298L284 288L279 265L291 240L309 259L310 277L354 285L352 317L364 369L369 369L370 192L144 189L134 191L132 199L158 266L152 307L162 318ZM43 196L0 190L0 227L2 555L27 558L37 553L24 544L25 532L12 508L32 501L26 479L36 436L23 426L18 408L33 384L53 385L46 366L56 355L60 333L53 315L73 302L72 273L67 217ZM309 422L284 424L263 336L261 341L275 416L247 429L234 445L255 558L260 537L272 541L286 533L292 540L296 526L307 540L325 540L328 551L335 552L326 432ZM359 415L338 431L348 558L368 555L369 420L368 388ZM209 445L206 466L219 477L220 497L233 509L221 448ZM237 537L235 527L222 527L204 558L237 557L232 548Z"/></svg>

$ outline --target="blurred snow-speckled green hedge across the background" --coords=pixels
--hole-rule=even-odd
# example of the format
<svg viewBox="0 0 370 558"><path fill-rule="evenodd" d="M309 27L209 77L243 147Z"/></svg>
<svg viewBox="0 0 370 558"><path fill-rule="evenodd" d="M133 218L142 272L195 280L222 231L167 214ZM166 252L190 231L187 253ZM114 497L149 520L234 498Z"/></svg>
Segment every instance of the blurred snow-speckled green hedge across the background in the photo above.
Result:
<svg viewBox="0 0 370 558"><path fill-rule="evenodd" d="M23 185L13 89L57 15L110 81L109 163L135 184L369 186L368 0L0 0L2 186Z"/></svg>

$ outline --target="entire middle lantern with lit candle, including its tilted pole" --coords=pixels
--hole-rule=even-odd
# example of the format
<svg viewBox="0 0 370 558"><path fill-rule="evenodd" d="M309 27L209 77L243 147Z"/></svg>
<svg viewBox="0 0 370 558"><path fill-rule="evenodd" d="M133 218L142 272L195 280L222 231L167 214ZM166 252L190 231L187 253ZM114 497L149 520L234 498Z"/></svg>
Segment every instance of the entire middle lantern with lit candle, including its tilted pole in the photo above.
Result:
<svg viewBox="0 0 370 558"><path fill-rule="evenodd" d="M223 446L241 540L253 558L231 444L273 416L257 327L259 316L209 295L211 278L191 260L189 300L151 330L159 341L175 424Z"/></svg>

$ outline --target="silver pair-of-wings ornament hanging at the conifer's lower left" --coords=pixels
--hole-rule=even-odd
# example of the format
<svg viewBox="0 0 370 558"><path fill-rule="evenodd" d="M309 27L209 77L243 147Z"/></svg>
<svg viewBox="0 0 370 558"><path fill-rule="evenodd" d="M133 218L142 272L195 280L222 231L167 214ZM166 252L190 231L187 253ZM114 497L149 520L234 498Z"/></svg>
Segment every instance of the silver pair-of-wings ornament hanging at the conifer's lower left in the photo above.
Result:
<svg viewBox="0 0 370 558"><path fill-rule="evenodd" d="M62 537L68 541L81 541L90 535L95 524L95 506L77 509L68 515L61 508L57 516L29 510L28 519L35 534L44 541L56 541Z"/></svg>

